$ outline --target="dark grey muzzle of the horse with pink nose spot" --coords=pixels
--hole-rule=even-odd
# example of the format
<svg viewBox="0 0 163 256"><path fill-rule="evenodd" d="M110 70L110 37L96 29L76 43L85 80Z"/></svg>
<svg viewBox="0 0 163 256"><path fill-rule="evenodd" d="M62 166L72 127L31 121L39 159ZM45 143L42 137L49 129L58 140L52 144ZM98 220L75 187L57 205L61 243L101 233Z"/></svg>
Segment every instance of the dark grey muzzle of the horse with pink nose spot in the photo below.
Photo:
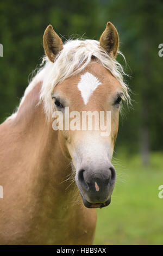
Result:
<svg viewBox="0 0 163 256"><path fill-rule="evenodd" d="M103 208L110 204L116 172L112 164L102 170L82 168L76 174L76 183L87 208Z"/></svg>

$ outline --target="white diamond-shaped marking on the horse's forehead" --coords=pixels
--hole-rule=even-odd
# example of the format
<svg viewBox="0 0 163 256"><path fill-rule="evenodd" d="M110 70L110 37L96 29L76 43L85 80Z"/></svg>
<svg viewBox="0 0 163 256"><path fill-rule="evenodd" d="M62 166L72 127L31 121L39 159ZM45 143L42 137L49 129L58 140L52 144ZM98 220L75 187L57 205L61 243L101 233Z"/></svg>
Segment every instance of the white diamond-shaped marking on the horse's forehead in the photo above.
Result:
<svg viewBox="0 0 163 256"><path fill-rule="evenodd" d="M101 82L99 82L98 78L89 72L86 72L81 76L81 80L78 83L78 89L82 94L85 105L89 101L91 94L100 84Z"/></svg>

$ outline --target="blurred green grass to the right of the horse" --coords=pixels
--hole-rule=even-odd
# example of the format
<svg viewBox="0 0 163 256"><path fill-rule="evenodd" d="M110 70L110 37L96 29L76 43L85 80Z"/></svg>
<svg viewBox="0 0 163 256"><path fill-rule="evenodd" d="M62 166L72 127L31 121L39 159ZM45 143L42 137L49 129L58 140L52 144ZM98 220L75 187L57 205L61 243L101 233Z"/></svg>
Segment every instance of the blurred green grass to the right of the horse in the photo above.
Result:
<svg viewBox="0 0 163 256"><path fill-rule="evenodd" d="M111 204L97 209L95 245L163 245L163 154L144 167L139 156L118 155Z"/></svg>

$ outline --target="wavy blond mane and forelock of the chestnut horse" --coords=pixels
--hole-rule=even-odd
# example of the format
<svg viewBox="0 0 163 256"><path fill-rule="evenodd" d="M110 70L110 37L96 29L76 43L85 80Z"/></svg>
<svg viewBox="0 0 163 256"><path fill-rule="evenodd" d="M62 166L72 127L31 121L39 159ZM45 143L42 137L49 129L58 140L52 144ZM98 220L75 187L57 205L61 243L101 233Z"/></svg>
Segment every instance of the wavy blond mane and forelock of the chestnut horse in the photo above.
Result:
<svg viewBox="0 0 163 256"><path fill-rule="evenodd" d="M123 54L118 51L118 54ZM101 63L111 74L121 83L124 98L127 104L130 103L129 88L123 81L126 75L120 63L111 58L105 50L99 46L96 40L68 40L64 44L64 48L52 63L47 57L42 59L41 68L37 71L36 76L30 82L24 92L24 96L20 102L20 106L26 95L33 89L37 82L42 81L40 92L40 102L43 102L44 111L49 118L52 117L54 111L54 102L52 100L53 88L66 78L78 74L91 62L92 56L96 61ZM124 56L123 56L124 58ZM125 58L124 58L125 59ZM14 118L16 113L9 118Z"/></svg>

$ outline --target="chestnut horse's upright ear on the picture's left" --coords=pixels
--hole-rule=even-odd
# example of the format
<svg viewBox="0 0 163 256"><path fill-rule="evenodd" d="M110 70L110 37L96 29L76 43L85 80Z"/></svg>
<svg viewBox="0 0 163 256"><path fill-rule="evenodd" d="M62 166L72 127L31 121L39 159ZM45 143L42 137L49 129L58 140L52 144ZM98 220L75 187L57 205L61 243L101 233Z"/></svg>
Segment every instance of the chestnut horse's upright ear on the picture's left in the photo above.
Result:
<svg viewBox="0 0 163 256"><path fill-rule="evenodd" d="M54 62L55 56L62 50L63 44L59 35L49 25L43 34L43 48L49 60Z"/></svg>

